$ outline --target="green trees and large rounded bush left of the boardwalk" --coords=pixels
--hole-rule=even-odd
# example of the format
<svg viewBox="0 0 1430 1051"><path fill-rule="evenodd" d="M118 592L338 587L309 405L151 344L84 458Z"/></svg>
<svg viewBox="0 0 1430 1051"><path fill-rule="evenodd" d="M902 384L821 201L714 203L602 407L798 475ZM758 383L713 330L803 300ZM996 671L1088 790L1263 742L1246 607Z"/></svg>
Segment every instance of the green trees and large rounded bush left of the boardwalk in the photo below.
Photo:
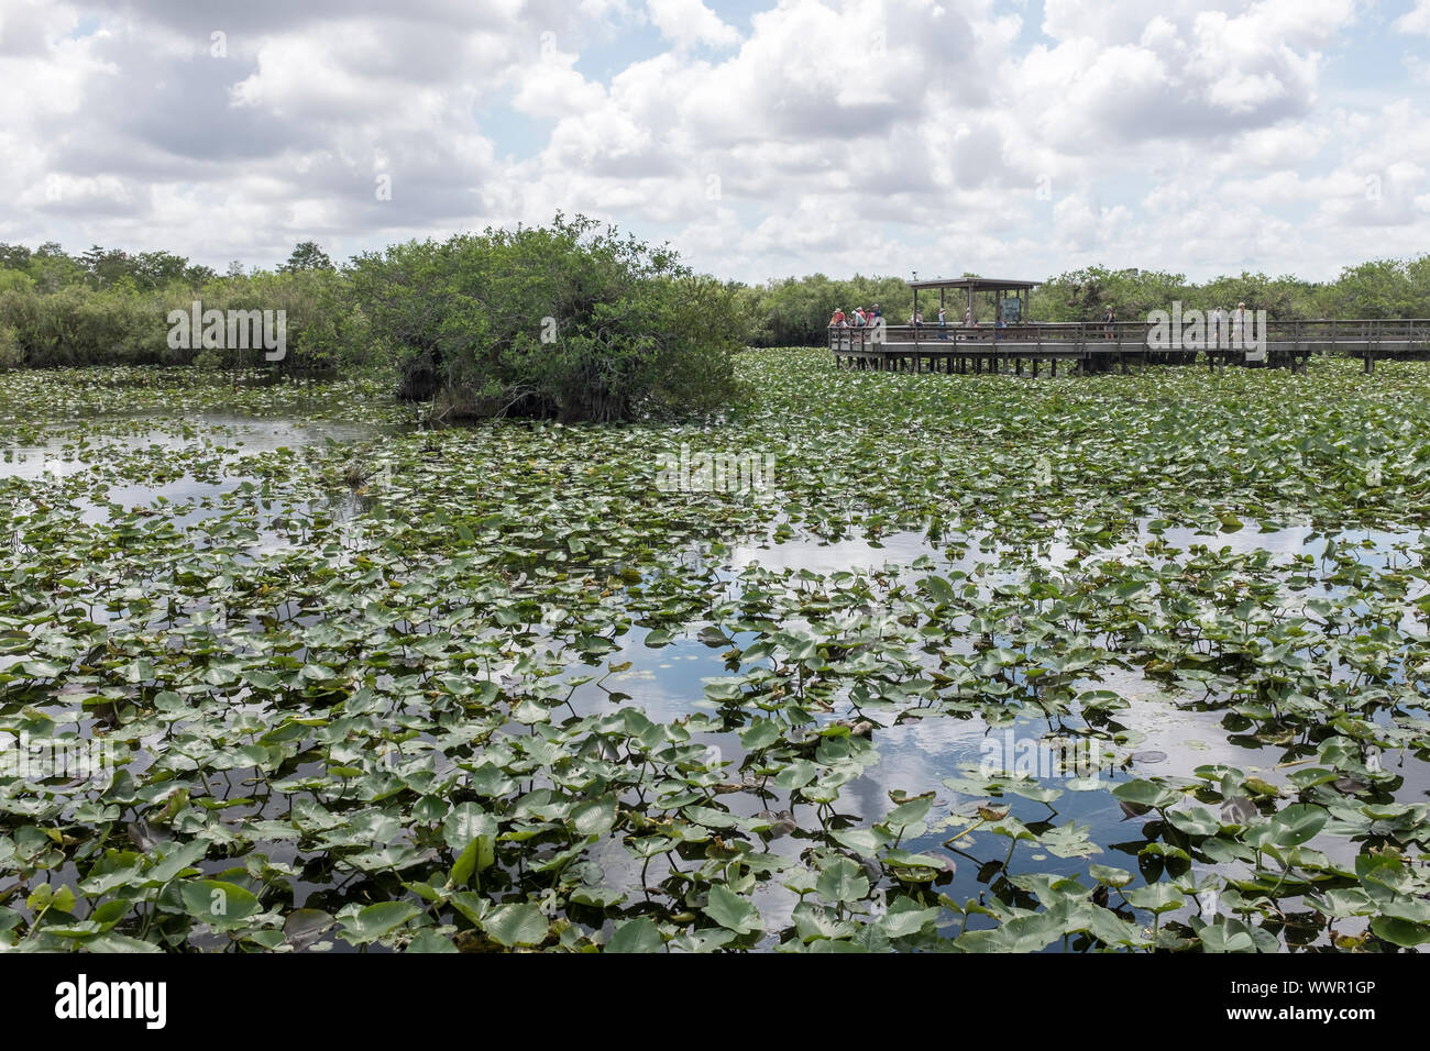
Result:
<svg viewBox="0 0 1430 1051"><path fill-rule="evenodd" d="M618 420L736 392L735 289L596 222L412 240L337 266L302 242L276 270L170 253L0 246L0 366L259 365L262 347L170 339L194 302L283 312L287 367L385 370L450 416Z"/></svg>

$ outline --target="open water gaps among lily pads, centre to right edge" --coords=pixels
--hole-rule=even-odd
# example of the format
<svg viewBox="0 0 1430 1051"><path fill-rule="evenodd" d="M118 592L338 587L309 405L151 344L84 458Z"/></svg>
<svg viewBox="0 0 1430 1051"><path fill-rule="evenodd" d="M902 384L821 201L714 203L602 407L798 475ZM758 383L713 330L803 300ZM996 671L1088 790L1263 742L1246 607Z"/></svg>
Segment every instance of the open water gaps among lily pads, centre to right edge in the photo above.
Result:
<svg viewBox="0 0 1430 1051"><path fill-rule="evenodd" d="M1174 528L1165 529L1158 538L1148 529L1148 523L1153 520L1144 519L1138 523L1135 538L1097 551L1090 556L1084 556L1065 541L1058 539L1045 545L1031 561L1051 569L1067 569L1074 563L1080 569L1085 569L1094 562L1128 559L1150 541L1160 539L1161 543L1174 551L1163 549L1157 561L1173 559L1195 546L1205 546L1227 556L1267 552L1276 556L1278 565L1287 566L1291 556L1296 555L1313 553L1318 556L1324 551L1326 541L1334 539L1343 549L1350 551L1360 565L1386 571L1391 565L1404 565L1407 549L1410 552L1424 551L1426 539L1419 531L1409 533L1347 531L1327 538L1303 525L1268 531L1258 531L1253 526L1218 533ZM984 541L984 538L977 538L977 541ZM981 548L978 542L954 546L935 545L918 532L899 532L878 541L854 536L832 542L797 535L792 541L782 543L736 545L719 566L718 576L725 581L732 595L738 595L745 575L761 571L788 579L802 579L808 575L828 578L835 573L852 573L874 578L878 581L875 586L888 589L911 585L930 573L947 575L954 571L977 573L984 569L991 571L980 586L980 592L987 593L995 582L1017 578L1017 572L995 569L1002 563L1001 552L988 549L995 546ZM1145 552L1141 558L1147 558ZM1344 595L1344 588L1327 585L1320 593ZM1417 586L1411 591L1411 598L1424 592L1423 586ZM1348 608L1363 609L1363 603L1351 603ZM629 662L632 666L629 671L612 676L608 686L628 694L629 699L622 701L622 704L641 708L652 719L675 721L692 711L714 709L715 705L704 698L705 684L735 672L749 671L749 668L738 662L732 665L725 655L726 645L709 646L699 642L695 636L702 626L692 625L684 638L661 649L646 648L644 645L646 632L633 629L625 636L621 649L609 655L611 663ZM1424 636L1423 623L1416 621L1414 609L1409 605L1401 629L1407 632L1407 636L1416 631L1421 639ZM745 638L735 636L734 639L735 648L744 648L748 643L749 639ZM967 645L954 643L950 648L968 652ZM952 881L941 889L955 901L980 898L1004 874L1020 871L1020 865L1021 871L1080 877L1087 885L1085 868L1091 861L1127 868L1155 881L1161 872L1160 862L1153 859L1153 864L1148 864L1147 858L1141 855L1141 849L1150 839L1157 838L1155 835L1144 837L1141 827L1155 815L1130 818L1117 798L1110 794L1110 789L1120 782L1153 775L1194 779L1198 768L1221 764L1271 784L1284 784L1286 775L1291 771L1314 765L1314 762L1306 761L1288 762L1286 745L1261 742L1248 736L1243 728L1234 726L1236 718L1224 706L1190 704L1191 698L1187 695L1150 681L1138 671L1104 668L1095 676L1080 679L1075 685L1077 689L1110 689L1131 702L1128 708L1117 711L1114 715L1118 744L1111 751L1115 758L1104 762L1088 778L1072 778L1058 769L1050 769L1045 758L1041 762L1034 761L1037 785L1058 789L1061 796L1051 804L1044 804L1005 794L998 802L1008 805L1012 815L1028 825L1037 822L1087 825L1091 829L1090 839L1098 851L1087 858L1058 858L1038 847L1018 845L1005 868L1002 857L958 857L960 852L954 849L958 868ZM586 694L585 701L586 704L578 706L578 711L602 711L601 698ZM606 704L605 709L612 706ZM1410 709L1410 712L1423 714L1421 709ZM865 712L865 715L871 719L879 718L878 714ZM854 721L861 718L861 714L852 711L848 704L841 704L821 716L819 722L828 725L837 718ZM1384 721L1387 716L1381 712L1380 718ZM841 816L849 818L852 824L867 827L879 821L892 808L895 792L932 791L937 796L930 815L932 827L930 834L904 844L911 851L924 851L932 855L945 854L945 839L961 828L970 827L975 819L975 812L970 806L977 796L964 796L948 788L944 781L958 778L960 771L988 764L990 756L1001 759L1005 751L1002 745L1008 738L1020 745L1031 746L1052 728L1051 721L1027 714L1020 714L1011 725L997 726L977 715L954 718L932 714L912 721L884 722L887 725L879 725L872 732L879 756L878 762L857 781L844 786L838 812ZM1077 718L1075 714L1061 719L1061 724L1074 731L1088 729L1088 724ZM1107 729L1107 726L1101 728L1103 732ZM731 761L731 769L738 769L745 758L738 736L734 734L708 735L701 741L719 749L722 758ZM1107 742L1103 741L1101 745L1105 748ZM997 764L990 766L990 769L1000 768ZM1387 755L1386 769L1401 776L1400 785L1393 792L1397 802L1414 802L1430 796L1430 764L1413 756ZM1024 768L1020 766L1018 772L1024 772ZM785 796L784 801L768 804L775 809L788 805L798 825L786 838L776 838L768 848L785 855L801 845L821 841L824 831L821 822L815 819L815 806L801 802L791 805L791 801L792 796ZM745 815L752 815L765 805L749 794L725 796L722 802L729 805L732 811ZM1216 808L1213 806L1213 809ZM1323 851L1333 862L1354 867L1357 845L1350 839L1323 834L1310 847ZM608 852L608 864L619 865L621 859L615 858L613 854ZM1203 871L1218 871L1226 875L1238 868L1237 865L1210 868L1195 865L1190 875L1195 877ZM1133 887L1140 882L1141 879L1135 879ZM755 901L772 925L788 921L791 909L798 904L798 898L782 891L778 881L771 881L756 889ZM1294 907L1297 901L1291 899L1288 904ZM970 929L982 925L991 924L974 919ZM1357 927L1357 921L1337 922L1341 932L1354 931Z"/></svg>

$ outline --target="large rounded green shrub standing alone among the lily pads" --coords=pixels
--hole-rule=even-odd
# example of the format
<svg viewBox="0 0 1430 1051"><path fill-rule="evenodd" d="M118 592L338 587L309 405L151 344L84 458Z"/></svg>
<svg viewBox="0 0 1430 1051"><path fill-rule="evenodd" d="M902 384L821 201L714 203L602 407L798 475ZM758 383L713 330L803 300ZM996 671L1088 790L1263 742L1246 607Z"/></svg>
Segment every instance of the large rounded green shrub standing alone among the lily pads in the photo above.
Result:
<svg viewBox="0 0 1430 1051"><path fill-rule="evenodd" d="M592 220L396 245L352 280L403 393L456 415L608 422L735 392L734 293Z"/></svg>

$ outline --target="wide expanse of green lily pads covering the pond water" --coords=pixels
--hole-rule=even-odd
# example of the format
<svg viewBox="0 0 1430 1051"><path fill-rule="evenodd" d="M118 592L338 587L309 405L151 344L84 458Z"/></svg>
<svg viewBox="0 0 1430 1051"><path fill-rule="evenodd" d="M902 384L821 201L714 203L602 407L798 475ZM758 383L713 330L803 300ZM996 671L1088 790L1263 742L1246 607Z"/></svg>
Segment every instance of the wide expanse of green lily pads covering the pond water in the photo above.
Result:
<svg viewBox="0 0 1430 1051"><path fill-rule="evenodd" d="M1430 941L1423 366L741 372L452 429L0 375L0 942Z"/></svg>

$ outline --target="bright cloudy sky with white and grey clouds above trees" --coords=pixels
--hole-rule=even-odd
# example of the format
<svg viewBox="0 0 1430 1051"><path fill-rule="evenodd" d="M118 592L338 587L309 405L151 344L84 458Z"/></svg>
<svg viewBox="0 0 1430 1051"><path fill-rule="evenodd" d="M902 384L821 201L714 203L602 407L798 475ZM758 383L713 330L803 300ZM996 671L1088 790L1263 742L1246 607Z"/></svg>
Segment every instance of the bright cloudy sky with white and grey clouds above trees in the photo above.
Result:
<svg viewBox="0 0 1430 1051"><path fill-rule="evenodd" d="M556 210L764 280L1430 250L1430 0L0 0L0 240Z"/></svg>

